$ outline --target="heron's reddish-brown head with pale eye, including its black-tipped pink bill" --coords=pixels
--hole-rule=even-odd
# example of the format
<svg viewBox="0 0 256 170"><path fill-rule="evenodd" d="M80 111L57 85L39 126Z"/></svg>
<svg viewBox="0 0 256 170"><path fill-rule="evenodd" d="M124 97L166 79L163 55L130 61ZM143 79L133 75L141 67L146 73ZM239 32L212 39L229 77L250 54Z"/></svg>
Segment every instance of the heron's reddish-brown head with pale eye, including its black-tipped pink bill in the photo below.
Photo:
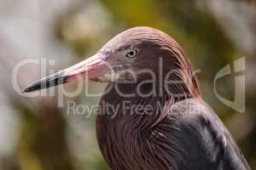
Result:
<svg viewBox="0 0 256 170"><path fill-rule="evenodd" d="M191 78L191 89L198 88L189 60L176 41L163 31L150 27L134 27L119 33L107 42L95 55L44 77L26 88L32 92L61 83L75 82L86 77L95 82L142 82L168 79L185 82ZM177 85L181 87L183 85ZM196 94L200 94L199 88Z"/></svg>

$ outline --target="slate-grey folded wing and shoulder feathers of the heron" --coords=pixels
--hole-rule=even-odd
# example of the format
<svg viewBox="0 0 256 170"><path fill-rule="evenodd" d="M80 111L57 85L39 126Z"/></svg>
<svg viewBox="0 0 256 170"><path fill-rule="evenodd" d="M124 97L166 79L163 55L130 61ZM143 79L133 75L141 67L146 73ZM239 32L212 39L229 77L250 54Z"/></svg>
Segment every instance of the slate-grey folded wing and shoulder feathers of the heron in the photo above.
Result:
<svg viewBox="0 0 256 170"><path fill-rule="evenodd" d="M178 142L187 164L177 169L250 169L224 124L205 102L185 99L173 105L170 114L177 116Z"/></svg>

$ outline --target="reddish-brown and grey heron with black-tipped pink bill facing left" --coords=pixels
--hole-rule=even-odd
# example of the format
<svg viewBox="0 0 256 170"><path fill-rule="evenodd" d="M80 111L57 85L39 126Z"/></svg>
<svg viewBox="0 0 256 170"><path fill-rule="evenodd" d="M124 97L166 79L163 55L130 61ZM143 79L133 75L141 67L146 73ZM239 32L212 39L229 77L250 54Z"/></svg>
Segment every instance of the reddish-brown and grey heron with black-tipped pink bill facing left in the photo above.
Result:
<svg viewBox="0 0 256 170"><path fill-rule="evenodd" d="M130 28L90 58L23 92L75 82L78 76L108 82L96 115L96 139L110 169L250 169L235 139L202 99L183 49L165 32Z"/></svg>

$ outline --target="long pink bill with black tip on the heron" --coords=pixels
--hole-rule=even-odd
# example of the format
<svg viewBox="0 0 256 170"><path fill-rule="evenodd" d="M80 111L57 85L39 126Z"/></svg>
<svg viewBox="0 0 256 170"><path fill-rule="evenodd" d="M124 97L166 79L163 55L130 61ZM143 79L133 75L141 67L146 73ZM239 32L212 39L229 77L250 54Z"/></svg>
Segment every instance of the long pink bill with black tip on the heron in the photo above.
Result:
<svg viewBox="0 0 256 170"><path fill-rule="evenodd" d="M39 89L53 87L66 82L76 82L79 77L86 77L89 80L96 80L97 77L102 77L109 71L108 62L104 60L102 54L95 54L89 59L68 67L63 71L59 71L49 77L44 77L38 82L32 83L31 86L24 89L22 92L32 92Z"/></svg>

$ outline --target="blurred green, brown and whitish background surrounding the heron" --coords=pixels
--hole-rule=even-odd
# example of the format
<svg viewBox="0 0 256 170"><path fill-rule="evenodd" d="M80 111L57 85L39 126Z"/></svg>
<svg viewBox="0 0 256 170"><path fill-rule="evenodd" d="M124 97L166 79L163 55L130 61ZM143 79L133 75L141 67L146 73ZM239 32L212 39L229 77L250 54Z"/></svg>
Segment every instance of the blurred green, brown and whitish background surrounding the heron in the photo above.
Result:
<svg viewBox="0 0 256 170"><path fill-rule="evenodd" d="M98 98L22 97L12 71L23 59L63 69L96 53L111 37L132 26L166 31L183 47L195 69L204 99L224 121L256 169L256 1L253 0L0 0L0 169L104 170L96 144L95 115L67 114L67 100L94 105ZM246 57L246 111L238 113L213 93L213 79L225 65ZM40 77L26 65L18 82L25 88ZM234 99L234 76L218 81L218 94ZM65 85L73 89L76 84ZM102 92L106 84L92 82ZM89 113L90 114L90 113Z"/></svg>

